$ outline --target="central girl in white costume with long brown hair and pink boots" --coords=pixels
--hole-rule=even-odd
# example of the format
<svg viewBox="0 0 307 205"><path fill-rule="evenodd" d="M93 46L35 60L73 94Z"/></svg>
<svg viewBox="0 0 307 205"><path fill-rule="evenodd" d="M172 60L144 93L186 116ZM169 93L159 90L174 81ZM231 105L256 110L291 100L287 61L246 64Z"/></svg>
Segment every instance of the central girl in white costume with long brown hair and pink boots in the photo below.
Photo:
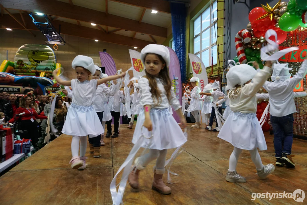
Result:
<svg viewBox="0 0 307 205"><path fill-rule="evenodd" d="M179 147L187 139L170 114L169 104L176 110L183 127L186 127L186 121L169 78L167 68L170 62L169 50L163 45L150 44L142 49L141 59L146 68L146 76L138 81L142 110L132 142L136 146L139 140L143 140L140 146L149 148L149 153L135 160L134 169L129 174L128 181L132 188L138 189L139 172L145 169L150 161L157 158L152 189L162 194L170 194L171 189L162 180L167 149ZM151 139L142 137L143 134L150 136L151 133Z"/></svg>

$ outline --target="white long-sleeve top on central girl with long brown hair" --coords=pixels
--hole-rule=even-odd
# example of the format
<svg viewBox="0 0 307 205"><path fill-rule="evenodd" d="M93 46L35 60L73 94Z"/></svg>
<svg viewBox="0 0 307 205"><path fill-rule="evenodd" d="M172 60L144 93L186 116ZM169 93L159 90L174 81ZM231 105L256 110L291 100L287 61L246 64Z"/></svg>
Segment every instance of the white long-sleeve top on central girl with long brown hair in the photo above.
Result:
<svg viewBox="0 0 307 205"><path fill-rule="evenodd" d="M140 105L144 107L144 105L151 105L152 108L155 109L165 109L169 108L169 105L173 107L174 110L178 110L181 108L181 104L178 101L176 94L174 92L174 88L171 88L171 96L169 99L166 96L166 91L164 89L164 85L162 79L155 78L157 81L157 87L161 93L161 99L159 99L159 104L157 98L152 96L150 93L149 81L147 78L143 77L138 81L139 94L140 94Z"/></svg>

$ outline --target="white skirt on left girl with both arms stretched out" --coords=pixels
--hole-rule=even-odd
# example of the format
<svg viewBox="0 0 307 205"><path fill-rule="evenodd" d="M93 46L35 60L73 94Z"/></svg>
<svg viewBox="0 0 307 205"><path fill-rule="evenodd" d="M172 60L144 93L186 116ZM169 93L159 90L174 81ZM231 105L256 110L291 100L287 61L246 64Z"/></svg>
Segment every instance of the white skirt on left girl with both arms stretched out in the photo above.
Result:
<svg viewBox="0 0 307 205"><path fill-rule="evenodd" d="M72 136L96 137L104 132L99 117L93 106L85 107L71 104L62 133Z"/></svg>

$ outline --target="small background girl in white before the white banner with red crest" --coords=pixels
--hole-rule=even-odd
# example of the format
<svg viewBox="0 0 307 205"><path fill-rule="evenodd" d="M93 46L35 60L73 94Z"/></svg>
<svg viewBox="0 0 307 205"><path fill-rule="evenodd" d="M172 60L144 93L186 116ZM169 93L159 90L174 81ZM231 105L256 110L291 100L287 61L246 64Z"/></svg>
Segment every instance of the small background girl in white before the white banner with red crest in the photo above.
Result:
<svg viewBox="0 0 307 205"><path fill-rule="evenodd" d="M201 110L201 101L200 101L200 88L198 87L199 78L192 77L190 79L192 86L194 87L192 91L187 91L186 93L191 95L191 102L186 111L191 112L195 118L195 125L192 125L192 128L200 128L200 110Z"/></svg>

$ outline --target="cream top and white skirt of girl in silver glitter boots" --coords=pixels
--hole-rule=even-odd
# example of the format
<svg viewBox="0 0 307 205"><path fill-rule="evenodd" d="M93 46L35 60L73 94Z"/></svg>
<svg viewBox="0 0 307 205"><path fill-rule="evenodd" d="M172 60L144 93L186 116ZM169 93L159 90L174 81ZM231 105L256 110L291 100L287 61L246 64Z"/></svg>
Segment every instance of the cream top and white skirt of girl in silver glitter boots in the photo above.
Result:
<svg viewBox="0 0 307 205"><path fill-rule="evenodd" d="M270 68L264 68L253 78L253 82L245 84L239 93L229 91L231 113L218 135L219 138L243 150L266 150L266 140L256 117L257 91L270 75ZM239 88L238 88L239 89Z"/></svg>

